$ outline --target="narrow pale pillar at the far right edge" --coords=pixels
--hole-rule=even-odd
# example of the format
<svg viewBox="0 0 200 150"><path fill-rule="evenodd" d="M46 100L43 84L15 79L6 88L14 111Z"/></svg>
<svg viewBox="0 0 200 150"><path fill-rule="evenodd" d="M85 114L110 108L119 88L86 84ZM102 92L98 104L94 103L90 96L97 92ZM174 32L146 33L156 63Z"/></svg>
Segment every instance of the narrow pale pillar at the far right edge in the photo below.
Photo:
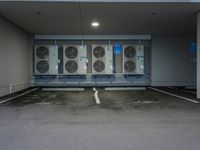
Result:
<svg viewBox="0 0 200 150"><path fill-rule="evenodd" d="M197 98L200 99L200 13L197 15Z"/></svg>

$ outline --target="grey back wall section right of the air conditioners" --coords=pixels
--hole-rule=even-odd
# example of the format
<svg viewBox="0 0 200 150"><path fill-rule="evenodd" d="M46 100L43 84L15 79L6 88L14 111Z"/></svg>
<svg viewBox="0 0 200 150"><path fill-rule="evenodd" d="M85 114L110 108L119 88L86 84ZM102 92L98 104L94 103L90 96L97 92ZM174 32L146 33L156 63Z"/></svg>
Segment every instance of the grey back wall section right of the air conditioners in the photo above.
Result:
<svg viewBox="0 0 200 150"><path fill-rule="evenodd" d="M191 61L188 36L153 36L152 86L196 85L196 62Z"/></svg>

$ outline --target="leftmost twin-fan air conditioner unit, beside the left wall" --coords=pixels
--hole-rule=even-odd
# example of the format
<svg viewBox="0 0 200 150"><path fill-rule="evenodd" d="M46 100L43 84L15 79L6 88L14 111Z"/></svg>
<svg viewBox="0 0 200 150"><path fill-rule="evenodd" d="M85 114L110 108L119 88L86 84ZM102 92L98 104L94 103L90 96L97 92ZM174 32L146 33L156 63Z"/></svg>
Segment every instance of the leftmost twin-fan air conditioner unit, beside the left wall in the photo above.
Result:
<svg viewBox="0 0 200 150"><path fill-rule="evenodd" d="M34 46L35 75L58 74L58 46L35 45Z"/></svg>

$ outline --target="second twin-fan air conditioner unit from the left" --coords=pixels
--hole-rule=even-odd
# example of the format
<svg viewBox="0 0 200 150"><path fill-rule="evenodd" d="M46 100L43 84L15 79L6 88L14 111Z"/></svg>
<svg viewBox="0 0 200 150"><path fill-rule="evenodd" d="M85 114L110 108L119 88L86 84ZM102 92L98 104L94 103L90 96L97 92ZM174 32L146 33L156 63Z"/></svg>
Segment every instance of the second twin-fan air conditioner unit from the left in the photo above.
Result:
<svg viewBox="0 0 200 150"><path fill-rule="evenodd" d="M87 46L63 46L63 73L65 75L87 74Z"/></svg>

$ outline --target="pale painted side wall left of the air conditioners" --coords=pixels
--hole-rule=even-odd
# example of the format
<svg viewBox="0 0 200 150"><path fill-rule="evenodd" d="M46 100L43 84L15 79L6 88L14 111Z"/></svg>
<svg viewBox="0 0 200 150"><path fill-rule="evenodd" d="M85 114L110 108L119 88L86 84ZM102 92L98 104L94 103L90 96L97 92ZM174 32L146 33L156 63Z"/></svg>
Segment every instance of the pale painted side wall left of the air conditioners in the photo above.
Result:
<svg viewBox="0 0 200 150"><path fill-rule="evenodd" d="M0 17L0 97L30 87L32 38Z"/></svg>

